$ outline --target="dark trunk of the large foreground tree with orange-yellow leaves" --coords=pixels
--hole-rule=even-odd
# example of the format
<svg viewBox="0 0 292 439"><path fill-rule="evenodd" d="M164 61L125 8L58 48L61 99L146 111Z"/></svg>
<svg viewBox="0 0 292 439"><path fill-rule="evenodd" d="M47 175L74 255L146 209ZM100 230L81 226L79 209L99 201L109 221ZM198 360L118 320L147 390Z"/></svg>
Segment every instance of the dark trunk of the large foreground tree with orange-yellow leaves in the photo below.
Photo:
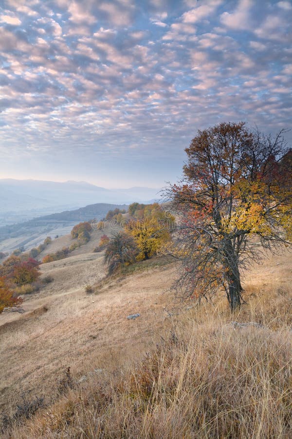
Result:
<svg viewBox="0 0 292 439"><path fill-rule="evenodd" d="M238 270L238 260L232 242L227 240L224 244L224 264L227 268L228 291L227 299L231 311L240 308L242 291L240 274Z"/></svg>

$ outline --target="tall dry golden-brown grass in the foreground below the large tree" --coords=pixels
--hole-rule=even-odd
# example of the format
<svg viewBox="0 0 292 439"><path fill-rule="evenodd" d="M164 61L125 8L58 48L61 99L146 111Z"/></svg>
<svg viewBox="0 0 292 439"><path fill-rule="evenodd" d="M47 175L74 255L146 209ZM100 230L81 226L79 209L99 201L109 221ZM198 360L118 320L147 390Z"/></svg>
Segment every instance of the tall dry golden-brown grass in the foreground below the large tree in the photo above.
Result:
<svg viewBox="0 0 292 439"><path fill-rule="evenodd" d="M292 438L291 291L247 299L173 317L128 373L92 374L10 437Z"/></svg>

